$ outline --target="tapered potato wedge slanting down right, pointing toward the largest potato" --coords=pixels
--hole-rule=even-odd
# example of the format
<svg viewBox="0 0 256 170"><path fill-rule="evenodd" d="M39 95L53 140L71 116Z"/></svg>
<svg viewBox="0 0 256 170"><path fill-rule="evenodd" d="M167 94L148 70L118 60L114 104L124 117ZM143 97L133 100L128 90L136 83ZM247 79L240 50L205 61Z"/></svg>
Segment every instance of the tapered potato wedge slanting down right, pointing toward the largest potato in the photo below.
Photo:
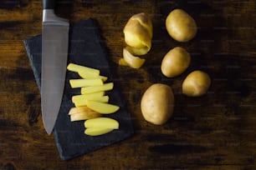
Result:
<svg viewBox="0 0 256 170"><path fill-rule="evenodd" d="M110 114L119 110L119 106L104 103L104 102L95 102L92 100L86 101L86 106L95 112L100 112L101 114Z"/></svg>

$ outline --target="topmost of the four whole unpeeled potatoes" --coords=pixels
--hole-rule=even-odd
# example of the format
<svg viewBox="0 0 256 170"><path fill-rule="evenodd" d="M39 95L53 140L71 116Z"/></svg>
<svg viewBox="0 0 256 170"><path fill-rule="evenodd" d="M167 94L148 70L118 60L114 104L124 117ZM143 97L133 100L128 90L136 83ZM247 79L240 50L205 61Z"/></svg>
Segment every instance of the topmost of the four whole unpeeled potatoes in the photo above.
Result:
<svg viewBox="0 0 256 170"><path fill-rule="evenodd" d="M166 29L178 42L188 42L197 34L197 23L182 9L175 9L166 18Z"/></svg>

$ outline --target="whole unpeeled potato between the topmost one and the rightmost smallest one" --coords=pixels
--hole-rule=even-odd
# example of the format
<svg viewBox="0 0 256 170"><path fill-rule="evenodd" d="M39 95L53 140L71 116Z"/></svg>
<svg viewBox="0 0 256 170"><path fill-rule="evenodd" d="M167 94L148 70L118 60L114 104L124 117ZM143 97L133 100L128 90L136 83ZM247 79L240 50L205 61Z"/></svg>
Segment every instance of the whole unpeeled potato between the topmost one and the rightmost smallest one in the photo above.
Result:
<svg viewBox="0 0 256 170"><path fill-rule="evenodd" d="M183 47L174 47L163 58L161 72L166 77L176 77L185 72L190 61L190 54Z"/></svg>

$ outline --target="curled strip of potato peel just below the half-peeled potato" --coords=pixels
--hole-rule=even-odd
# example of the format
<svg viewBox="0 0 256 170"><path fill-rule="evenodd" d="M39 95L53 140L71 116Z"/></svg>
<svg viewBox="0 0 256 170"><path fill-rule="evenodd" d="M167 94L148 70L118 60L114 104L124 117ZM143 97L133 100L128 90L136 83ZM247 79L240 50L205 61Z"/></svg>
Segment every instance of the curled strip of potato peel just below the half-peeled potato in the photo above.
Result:
<svg viewBox="0 0 256 170"><path fill-rule="evenodd" d="M123 49L123 57L124 57L125 62L130 67L133 67L133 68L140 68L143 65L143 63L145 62L145 59L143 59L141 57L133 56L131 54L131 52L129 52L125 48Z"/></svg>

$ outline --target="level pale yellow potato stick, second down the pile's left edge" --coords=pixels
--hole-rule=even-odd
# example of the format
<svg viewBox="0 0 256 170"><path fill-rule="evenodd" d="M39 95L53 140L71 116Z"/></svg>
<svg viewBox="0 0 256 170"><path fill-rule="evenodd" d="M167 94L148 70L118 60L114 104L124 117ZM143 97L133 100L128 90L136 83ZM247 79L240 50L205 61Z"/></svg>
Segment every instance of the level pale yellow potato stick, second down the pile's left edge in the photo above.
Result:
<svg viewBox="0 0 256 170"><path fill-rule="evenodd" d="M69 80L70 86L73 88L77 87L89 87L89 86L101 86L103 81L101 78L95 79L71 79Z"/></svg>

